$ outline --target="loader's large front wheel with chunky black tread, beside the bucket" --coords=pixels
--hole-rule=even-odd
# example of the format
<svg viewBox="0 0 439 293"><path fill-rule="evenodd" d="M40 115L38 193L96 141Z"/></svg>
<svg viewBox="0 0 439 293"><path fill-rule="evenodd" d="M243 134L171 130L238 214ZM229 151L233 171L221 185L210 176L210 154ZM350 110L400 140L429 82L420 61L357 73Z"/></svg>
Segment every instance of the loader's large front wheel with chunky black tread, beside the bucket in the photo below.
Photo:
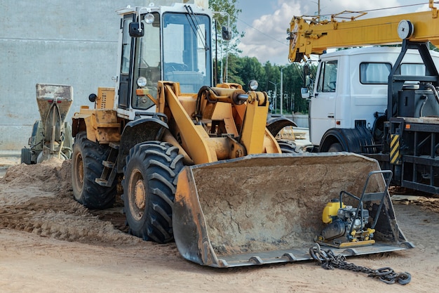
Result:
<svg viewBox="0 0 439 293"><path fill-rule="evenodd" d="M183 156L170 143L150 141L130 150L123 170L123 204L129 232L144 240L173 240L173 202Z"/></svg>

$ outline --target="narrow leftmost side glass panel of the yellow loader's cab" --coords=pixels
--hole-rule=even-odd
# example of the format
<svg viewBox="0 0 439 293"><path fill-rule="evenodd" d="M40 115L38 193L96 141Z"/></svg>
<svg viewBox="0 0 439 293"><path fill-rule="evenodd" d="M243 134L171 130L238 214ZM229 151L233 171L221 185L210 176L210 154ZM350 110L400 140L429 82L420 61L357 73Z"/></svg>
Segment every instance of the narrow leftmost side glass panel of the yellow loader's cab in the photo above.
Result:
<svg viewBox="0 0 439 293"><path fill-rule="evenodd" d="M133 15L125 15L123 18L123 41L122 41L122 52L121 52L121 72L119 72L119 108L128 108L128 101L130 97L131 89L131 77L130 74L132 70L131 66L131 56L132 47L135 38L130 37L130 22L133 22Z"/></svg>

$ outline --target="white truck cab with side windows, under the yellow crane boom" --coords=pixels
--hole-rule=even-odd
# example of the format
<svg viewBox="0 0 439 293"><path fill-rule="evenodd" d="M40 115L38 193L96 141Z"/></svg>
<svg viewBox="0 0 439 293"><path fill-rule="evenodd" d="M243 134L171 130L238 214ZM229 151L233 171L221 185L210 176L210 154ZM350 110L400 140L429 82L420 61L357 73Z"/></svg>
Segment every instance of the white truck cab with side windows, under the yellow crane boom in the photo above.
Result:
<svg viewBox="0 0 439 293"><path fill-rule="evenodd" d="M377 152L387 118L389 73L399 54L400 48L365 47L320 56L309 103L310 141L316 150ZM439 54L431 56L438 64ZM412 76L426 73L416 50L407 51L397 70Z"/></svg>

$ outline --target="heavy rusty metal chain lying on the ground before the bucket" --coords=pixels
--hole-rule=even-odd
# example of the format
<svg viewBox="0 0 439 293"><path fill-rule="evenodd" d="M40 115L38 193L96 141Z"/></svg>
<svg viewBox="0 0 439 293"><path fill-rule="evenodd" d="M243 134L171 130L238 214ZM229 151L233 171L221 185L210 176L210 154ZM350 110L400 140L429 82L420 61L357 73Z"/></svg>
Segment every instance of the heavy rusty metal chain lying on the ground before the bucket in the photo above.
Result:
<svg viewBox="0 0 439 293"><path fill-rule="evenodd" d="M410 280L412 280L412 275L410 275L410 273L395 273L395 271L389 267L373 270L372 268L356 266L353 263L348 263L344 255L335 255L331 249L320 249L320 245L317 243L309 249L309 254L320 266L322 266L322 268L325 268L326 270L340 268L342 270L367 273L368 277L377 278L386 284L394 284L395 282L398 282L400 285L407 285Z"/></svg>

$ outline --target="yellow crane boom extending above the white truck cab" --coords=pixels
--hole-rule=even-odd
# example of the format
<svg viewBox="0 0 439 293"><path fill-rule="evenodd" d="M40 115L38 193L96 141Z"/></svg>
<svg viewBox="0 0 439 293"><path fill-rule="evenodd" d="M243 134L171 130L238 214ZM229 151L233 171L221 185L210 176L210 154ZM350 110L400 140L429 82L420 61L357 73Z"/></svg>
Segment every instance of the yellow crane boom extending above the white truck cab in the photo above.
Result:
<svg viewBox="0 0 439 293"><path fill-rule="evenodd" d="M431 11L364 20L356 20L359 16L365 15L361 12L349 21L336 20L336 18L343 19L343 15L354 13L353 11L332 15L330 21L295 16L288 30L288 39L290 39L288 59L290 62L300 62L305 56L309 58L310 54L323 54L327 48L400 44L400 34L404 33L407 33L405 39L410 41L430 41L435 46L439 46L438 11L433 4L433 0L429 0ZM412 26L400 25L401 20L409 20Z"/></svg>

